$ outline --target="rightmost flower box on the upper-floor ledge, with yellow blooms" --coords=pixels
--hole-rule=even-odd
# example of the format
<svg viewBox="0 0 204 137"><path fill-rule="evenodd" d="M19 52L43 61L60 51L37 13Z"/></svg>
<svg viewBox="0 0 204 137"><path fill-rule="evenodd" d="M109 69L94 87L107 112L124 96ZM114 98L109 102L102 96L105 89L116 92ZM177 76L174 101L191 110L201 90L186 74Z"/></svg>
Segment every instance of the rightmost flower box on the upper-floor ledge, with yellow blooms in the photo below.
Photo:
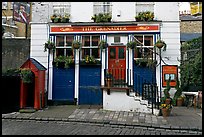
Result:
<svg viewBox="0 0 204 137"><path fill-rule="evenodd" d="M136 21L153 21L154 13L151 11L139 12L137 16L135 16Z"/></svg>

